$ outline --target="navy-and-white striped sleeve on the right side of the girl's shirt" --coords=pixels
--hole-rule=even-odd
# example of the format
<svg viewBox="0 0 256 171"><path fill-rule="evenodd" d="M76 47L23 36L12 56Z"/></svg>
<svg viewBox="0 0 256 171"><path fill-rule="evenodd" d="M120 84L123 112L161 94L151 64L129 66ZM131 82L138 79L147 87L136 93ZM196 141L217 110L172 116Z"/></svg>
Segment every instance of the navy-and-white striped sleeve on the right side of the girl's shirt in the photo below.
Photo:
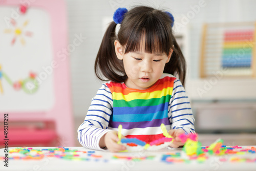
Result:
<svg viewBox="0 0 256 171"><path fill-rule="evenodd" d="M168 108L168 118L172 129L182 129L186 133L195 133L195 119L190 102L179 79L174 81L173 94Z"/></svg>

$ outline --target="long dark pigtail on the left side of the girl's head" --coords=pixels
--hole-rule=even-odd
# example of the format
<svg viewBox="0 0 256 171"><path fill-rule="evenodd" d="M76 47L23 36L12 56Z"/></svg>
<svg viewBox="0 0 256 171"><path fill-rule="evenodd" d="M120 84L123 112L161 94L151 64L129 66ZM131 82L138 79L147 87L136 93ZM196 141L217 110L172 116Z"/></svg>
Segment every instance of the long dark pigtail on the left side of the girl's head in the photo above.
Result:
<svg viewBox="0 0 256 171"><path fill-rule="evenodd" d="M122 60L119 60L115 53L114 41L117 39L115 29L116 23L111 22L103 36L95 60L94 71L102 81L123 82L127 78Z"/></svg>

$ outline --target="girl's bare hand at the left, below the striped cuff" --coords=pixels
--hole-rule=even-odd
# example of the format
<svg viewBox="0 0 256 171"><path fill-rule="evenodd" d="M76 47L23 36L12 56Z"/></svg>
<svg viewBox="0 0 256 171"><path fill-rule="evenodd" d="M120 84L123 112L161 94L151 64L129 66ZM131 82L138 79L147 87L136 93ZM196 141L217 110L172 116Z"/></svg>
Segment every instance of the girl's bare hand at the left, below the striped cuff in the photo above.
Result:
<svg viewBox="0 0 256 171"><path fill-rule="evenodd" d="M117 131L110 131L105 135L103 135L100 139L100 143L99 143L100 147L106 146L110 152L114 152L114 153L125 150L126 149L125 146L117 143L119 141L117 134L118 134ZM122 138L125 138L125 137L122 136Z"/></svg>

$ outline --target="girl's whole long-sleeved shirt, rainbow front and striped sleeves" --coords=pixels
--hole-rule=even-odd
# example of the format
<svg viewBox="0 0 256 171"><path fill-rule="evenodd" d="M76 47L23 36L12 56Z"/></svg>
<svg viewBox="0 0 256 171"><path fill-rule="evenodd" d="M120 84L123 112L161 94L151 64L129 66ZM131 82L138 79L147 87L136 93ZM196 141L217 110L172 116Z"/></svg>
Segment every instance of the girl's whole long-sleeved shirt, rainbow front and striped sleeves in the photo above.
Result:
<svg viewBox="0 0 256 171"><path fill-rule="evenodd" d="M92 99L78 128L78 140L84 147L100 149L99 139L110 130L118 131L122 124L122 135L151 142L163 137L161 123L167 130L195 133L190 103L179 79L163 74L146 90L108 81Z"/></svg>

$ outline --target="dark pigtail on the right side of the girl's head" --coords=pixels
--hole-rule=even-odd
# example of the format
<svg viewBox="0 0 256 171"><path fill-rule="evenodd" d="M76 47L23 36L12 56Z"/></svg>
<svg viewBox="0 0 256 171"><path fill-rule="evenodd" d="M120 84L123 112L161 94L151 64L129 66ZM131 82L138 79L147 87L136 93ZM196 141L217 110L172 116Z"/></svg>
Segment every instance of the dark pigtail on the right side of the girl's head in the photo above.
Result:
<svg viewBox="0 0 256 171"><path fill-rule="evenodd" d="M185 86L186 78L186 60L181 52L180 46L178 45L175 37L173 38L174 51L168 63L164 67L164 73L173 74L179 76L179 79L183 86Z"/></svg>

